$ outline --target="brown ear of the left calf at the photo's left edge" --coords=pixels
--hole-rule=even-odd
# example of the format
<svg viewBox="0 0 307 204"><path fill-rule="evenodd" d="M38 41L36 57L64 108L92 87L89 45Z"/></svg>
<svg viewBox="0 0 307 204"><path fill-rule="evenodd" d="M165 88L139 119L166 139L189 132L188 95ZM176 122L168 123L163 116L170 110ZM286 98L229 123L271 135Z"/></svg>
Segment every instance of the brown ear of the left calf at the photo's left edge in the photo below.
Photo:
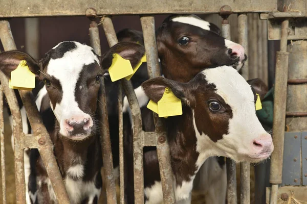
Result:
<svg viewBox="0 0 307 204"><path fill-rule="evenodd" d="M30 55L20 51L9 51L0 53L0 70L11 77L11 71L14 71L21 60L26 60L30 71L35 73L35 77L39 76L39 63Z"/></svg>

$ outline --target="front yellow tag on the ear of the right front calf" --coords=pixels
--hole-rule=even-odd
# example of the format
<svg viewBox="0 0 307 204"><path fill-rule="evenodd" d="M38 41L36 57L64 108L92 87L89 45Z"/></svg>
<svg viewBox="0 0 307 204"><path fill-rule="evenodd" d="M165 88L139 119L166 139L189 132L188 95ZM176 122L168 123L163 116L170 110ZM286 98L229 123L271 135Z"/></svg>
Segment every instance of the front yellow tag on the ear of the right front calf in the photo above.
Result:
<svg viewBox="0 0 307 204"><path fill-rule="evenodd" d="M181 100L177 98L170 88L165 88L162 98L158 101L159 117L182 115Z"/></svg>

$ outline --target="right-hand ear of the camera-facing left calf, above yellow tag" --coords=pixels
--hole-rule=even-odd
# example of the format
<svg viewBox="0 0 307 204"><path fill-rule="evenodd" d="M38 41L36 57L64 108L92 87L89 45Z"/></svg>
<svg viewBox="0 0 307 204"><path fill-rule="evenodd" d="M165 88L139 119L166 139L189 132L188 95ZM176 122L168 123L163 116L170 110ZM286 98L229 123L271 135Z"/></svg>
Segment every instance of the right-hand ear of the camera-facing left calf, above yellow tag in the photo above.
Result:
<svg viewBox="0 0 307 204"><path fill-rule="evenodd" d="M115 53L119 54L122 58L129 60L131 66L135 67L144 56L145 48L144 46L133 42L117 43L101 57L100 64L103 70L108 69L111 66L113 54Z"/></svg>

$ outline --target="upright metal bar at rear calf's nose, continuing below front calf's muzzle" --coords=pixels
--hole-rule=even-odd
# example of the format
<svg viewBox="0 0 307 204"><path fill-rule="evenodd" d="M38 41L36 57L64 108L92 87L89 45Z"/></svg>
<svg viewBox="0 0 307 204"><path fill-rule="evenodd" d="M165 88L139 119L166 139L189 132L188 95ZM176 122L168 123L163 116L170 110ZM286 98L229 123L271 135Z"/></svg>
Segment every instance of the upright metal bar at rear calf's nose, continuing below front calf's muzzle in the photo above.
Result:
<svg viewBox="0 0 307 204"><path fill-rule="evenodd" d="M238 15L238 43L245 48L245 53L248 53L248 24L247 14ZM242 68L242 75L245 80L248 80L248 61L245 62ZM242 162L240 164L240 203L250 203L250 163Z"/></svg>

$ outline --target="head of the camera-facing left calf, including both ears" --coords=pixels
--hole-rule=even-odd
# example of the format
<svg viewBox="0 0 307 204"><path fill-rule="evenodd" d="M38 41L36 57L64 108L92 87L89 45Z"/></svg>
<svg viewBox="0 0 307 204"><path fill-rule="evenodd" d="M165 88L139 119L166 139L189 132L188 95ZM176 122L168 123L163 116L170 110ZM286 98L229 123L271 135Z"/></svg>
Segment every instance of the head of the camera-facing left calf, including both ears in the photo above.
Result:
<svg viewBox="0 0 307 204"><path fill-rule="evenodd" d="M50 97L50 106L59 123L59 133L72 140L83 140L95 131L100 77L118 53L135 66L144 55L144 47L136 43L119 43L101 58L93 48L79 42L61 42L41 60L26 53L11 51L0 54L0 68L8 76L20 60L43 80ZM124 67L123 67L124 68Z"/></svg>

